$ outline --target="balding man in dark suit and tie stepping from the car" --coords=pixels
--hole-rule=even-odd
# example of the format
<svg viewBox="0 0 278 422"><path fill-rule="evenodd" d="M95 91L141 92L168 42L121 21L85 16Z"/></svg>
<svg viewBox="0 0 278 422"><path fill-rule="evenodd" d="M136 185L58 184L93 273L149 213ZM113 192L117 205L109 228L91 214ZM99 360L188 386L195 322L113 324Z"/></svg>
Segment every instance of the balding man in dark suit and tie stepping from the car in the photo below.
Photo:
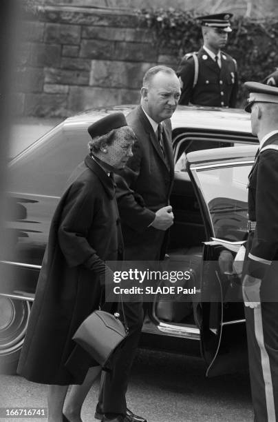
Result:
<svg viewBox="0 0 278 422"><path fill-rule="evenodd" d="M164 258L168 228L173 224L169 197L173 185L171 121L180 98L180 83L175 72L156 66L145 74L141 102L127 116L136 134L133 157L122 169L117 183L118 207L127 261L159 261ZM142 329L142 301L123 303L129 327L128 340L116 361L113 374L103 373L96 419L113 422L144 422L125 400L129 372ZM72 411L80 412L89 383L71 396Z"/></svg>

